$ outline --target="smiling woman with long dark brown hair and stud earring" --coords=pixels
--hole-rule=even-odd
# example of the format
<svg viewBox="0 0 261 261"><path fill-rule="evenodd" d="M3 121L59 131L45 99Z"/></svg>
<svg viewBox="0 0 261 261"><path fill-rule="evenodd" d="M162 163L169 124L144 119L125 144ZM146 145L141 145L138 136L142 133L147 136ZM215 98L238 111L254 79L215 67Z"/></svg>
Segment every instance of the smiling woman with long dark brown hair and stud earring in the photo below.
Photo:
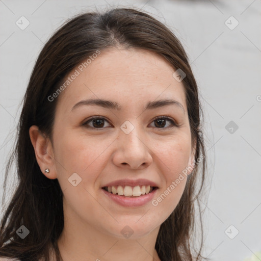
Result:
<svg viewBox="0 0 261 261"><path fill-rule="evenodd" d="M70 19L24 96L0 256L200 260L200 112L185 50L161 22L127 8Z"/></svg>

